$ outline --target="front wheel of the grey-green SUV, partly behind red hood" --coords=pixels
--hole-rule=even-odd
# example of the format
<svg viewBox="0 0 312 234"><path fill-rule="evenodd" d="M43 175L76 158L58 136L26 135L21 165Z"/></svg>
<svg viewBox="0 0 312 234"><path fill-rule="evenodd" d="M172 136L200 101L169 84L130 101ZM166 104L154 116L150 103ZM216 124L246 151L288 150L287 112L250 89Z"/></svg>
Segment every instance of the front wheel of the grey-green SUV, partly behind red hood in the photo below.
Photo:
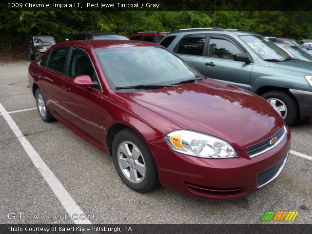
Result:
<svg viewBox="0 0 312 234"><path fill-rule="evenodd" d="M262 95L277 108L285 122L290 125L297 117L298 108L291 95L283 91L270 91Z"/></svg>

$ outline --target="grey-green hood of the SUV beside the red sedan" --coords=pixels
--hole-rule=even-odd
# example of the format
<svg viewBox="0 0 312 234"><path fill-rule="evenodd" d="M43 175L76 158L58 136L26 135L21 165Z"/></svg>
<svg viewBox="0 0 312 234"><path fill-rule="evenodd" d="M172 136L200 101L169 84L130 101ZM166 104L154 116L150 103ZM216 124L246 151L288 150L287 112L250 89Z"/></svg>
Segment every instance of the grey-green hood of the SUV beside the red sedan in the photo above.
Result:
<svg viewBox="0 0 312 234"><path fill-rule="evenodd" d="M287 69L291 71L312 74L312 64L309 61L286 61L286 62L270 62L271 67Z"/></svg>

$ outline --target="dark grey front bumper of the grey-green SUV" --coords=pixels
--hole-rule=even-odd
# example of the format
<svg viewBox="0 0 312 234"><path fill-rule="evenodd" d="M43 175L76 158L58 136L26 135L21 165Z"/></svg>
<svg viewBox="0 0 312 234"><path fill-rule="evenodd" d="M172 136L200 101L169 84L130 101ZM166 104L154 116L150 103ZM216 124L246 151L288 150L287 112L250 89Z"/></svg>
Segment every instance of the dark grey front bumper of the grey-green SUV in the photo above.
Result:
<svg viewBox="0 0 312 234"><path fill-rule="evenodd" d="M289 91L297 99L300 117L312 117L312 92L296 89Z"/></svg>

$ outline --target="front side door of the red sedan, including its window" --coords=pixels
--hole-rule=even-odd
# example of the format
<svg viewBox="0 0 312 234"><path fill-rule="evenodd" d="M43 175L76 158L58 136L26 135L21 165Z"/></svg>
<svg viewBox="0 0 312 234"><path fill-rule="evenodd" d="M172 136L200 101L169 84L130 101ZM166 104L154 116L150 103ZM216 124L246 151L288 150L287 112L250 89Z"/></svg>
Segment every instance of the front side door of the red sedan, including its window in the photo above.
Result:
<svg viewBox="0 0 312 234"><path fill-rule="evenodd" d="M82 88L73 82L79 75L89 75L93 87ZM95 141L102 142L101 131L102 88L88 53L74 47L71 51L67 76L62 79L62 103L65 119Z"/></svg>

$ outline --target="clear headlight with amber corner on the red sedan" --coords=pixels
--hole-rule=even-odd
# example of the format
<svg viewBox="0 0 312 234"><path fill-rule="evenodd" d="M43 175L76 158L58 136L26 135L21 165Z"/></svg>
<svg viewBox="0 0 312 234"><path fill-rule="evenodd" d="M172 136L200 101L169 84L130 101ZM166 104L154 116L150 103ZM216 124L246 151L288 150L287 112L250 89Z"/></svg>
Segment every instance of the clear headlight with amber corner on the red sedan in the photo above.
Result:
<svg viewBox="0 0 312 234"><path fill-rule="evenodd" d="M166 140L174 151L186 155L206 158L237 157L230 143L202 133L176 130L168 133Z"/></svg>

